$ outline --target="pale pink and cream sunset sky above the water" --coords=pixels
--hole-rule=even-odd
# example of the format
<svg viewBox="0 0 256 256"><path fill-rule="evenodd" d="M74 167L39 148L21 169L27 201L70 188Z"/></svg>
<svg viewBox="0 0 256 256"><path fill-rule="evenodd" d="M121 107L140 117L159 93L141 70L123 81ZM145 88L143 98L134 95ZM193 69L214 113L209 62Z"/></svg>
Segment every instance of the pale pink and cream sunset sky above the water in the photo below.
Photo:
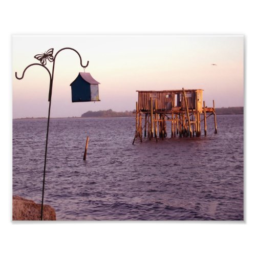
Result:
<svg viewBox="0 0 256 256"><path fill-rule="evenodd" d="M70 83L83 72L72 50L55 61L51 117L81 116L89 110L132 111L136 90L203 89L207 106L243 106L243 36L13 36L13 118L46 117L49 74L39 66L24 69L54 48L77 50L86 72L100 82L100 102L71 102ZM217 66L211 65L216 63ZM52 71L52 62L46 67Z"/></svg>

